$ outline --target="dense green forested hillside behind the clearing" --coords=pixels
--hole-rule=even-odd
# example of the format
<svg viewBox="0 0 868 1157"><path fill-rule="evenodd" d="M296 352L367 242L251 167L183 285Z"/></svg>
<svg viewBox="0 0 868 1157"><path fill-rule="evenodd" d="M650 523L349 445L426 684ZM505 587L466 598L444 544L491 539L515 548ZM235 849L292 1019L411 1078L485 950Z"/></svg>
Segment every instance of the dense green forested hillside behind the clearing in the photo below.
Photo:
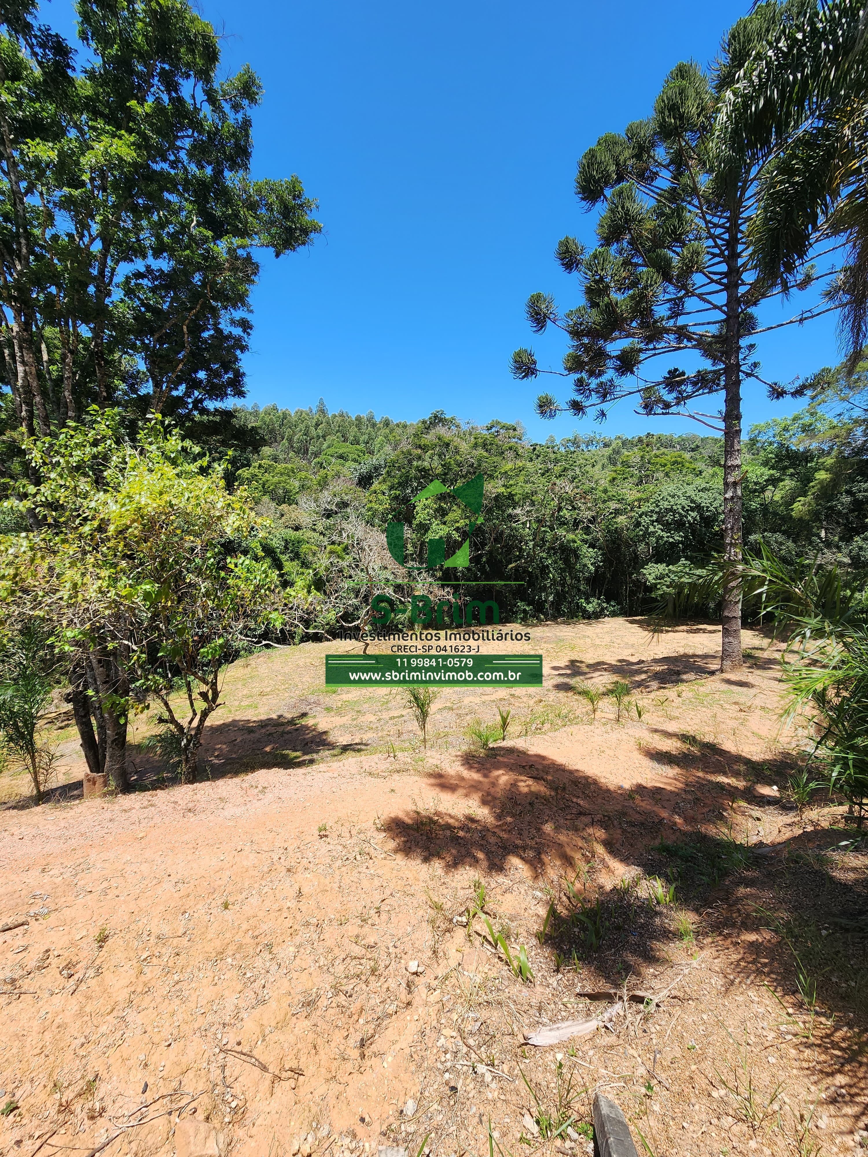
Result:
<svg viewBox="0 0 868 1157"><path fill-rule="evenodd" d="M294 597L296 631L319 638L365 622L374 589L398 570L384 531L404 519L407 557L447 553L466 537L448 495L413 503L433 479L455 487L481 472L483 523L468 570L498 587L505 618L594 618L647 611L720 552L722 439L574 435L545 444L520 425L461 423L436 412L418 422L373 414L237 407L262 448L235 474L272 529L265 541ZM818 406L755 427L745 445L745 544L785 562L812 557L868 565L868 460L841 451ZM484 588L483 588L484 589ZM477 588L479 590L479 588ZM486 598L494 596L494 588Z"/></svg>

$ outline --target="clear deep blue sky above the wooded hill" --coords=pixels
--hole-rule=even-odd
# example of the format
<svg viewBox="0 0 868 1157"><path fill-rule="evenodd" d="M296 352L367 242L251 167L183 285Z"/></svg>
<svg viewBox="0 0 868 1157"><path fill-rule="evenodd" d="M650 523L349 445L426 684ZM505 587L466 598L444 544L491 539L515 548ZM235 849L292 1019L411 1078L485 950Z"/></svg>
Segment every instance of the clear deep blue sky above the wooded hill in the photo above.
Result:
<svg viewBox="0 0 868 1157"><path fill-rule="evenodd" d="M594 214L573 192L583 149L647 116L669 68L708 61L748 7L201 0L226 35L226 69L249 61L265 84L256 176L297 172L325 227L309 250L263 260L249 400L322 397L395 419L443 408L521 420L539 440L598 430L535 417L536 393L556 379L512 379L516 346L554 367L564 352L558 337L530 333L524 301L543 289L578 302L552 251L567 233L593 238ZM69 0L46 12L72 29ZM766 324L794 311L775 304ZM760 356L780 379L834 362L834 323L779 331ZM745 427L797 408L745 392ZM647 429L701 428L621 403L603 433Z"/></svg>

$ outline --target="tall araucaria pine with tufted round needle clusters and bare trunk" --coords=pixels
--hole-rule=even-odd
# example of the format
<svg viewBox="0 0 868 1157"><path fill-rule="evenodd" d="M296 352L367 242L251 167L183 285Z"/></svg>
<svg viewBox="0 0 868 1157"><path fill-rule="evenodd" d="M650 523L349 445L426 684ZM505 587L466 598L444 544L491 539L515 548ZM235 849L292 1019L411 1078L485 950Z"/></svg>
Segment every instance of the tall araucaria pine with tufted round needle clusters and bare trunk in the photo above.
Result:
<svg viewBox="0 0 868 1157"><path fill-rule="evenodd" d="M602 421L613 403L632 397L639 413L687 415L722 430L723 554L734 565L722 594L722 671L742 665L735 570L742 557L742 385L758 382L780 392L760 376L752 339L834 308L821 301L786 322L759 325L755 310L764 300L807 288L815 273L808 267L781 288L752 270L748 226L779 142L771 131L740 135L731 124L726 133L719 125L726 94L780 27L784 7L762 5L738 21L711 71L677 65L649 119L606 133L584 153L576 193L601 208L599 244L588 251L565 237L556 250L562 268L579 275L584 301L562 315L549 294L534 294L527 304L537 333L557 325L568 336L564 369L540 369L530 349L512 359L517 378L556 373L573 379L565 406L550 393L537 399L542 417L568 411L583 418L593 407ZM722 395L720 411L696 408L715 395Z"/></svg>

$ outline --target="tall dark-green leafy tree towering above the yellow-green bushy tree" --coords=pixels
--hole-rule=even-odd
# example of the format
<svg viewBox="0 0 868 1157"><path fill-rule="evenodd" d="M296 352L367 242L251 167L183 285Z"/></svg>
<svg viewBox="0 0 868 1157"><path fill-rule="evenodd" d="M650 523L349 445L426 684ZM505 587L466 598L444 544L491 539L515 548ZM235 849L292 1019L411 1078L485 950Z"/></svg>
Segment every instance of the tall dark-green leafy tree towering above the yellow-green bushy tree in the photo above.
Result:
<svg viewBox="0 0 868 1157"><path fill-rule="evenodd" d="M257 76L218 80L186 0L80 0L75 46L35 9L0 8L0 347L23 433L241 396L255 251L321 229L297 177L251 179Z"/></svg>

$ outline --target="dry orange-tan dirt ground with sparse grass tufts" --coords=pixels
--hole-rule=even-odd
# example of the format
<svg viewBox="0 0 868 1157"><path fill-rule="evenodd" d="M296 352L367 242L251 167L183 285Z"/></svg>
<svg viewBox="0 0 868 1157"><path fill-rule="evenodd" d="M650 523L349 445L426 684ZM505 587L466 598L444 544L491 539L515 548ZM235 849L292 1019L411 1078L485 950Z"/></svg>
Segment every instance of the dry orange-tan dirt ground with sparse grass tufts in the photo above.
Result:
<svg viewBox="0 0 868 1157"><path fill-rule="evenodd" d="M196 784L134 749L82 802L60 710L52 802L0 779L0 1155L582 1155L596 1089L650 1157L867 1147L868 855L792 798L777 650L531 635L542 691L444 691L427 751L323 686L352 644L236 663Z"/></svg>

